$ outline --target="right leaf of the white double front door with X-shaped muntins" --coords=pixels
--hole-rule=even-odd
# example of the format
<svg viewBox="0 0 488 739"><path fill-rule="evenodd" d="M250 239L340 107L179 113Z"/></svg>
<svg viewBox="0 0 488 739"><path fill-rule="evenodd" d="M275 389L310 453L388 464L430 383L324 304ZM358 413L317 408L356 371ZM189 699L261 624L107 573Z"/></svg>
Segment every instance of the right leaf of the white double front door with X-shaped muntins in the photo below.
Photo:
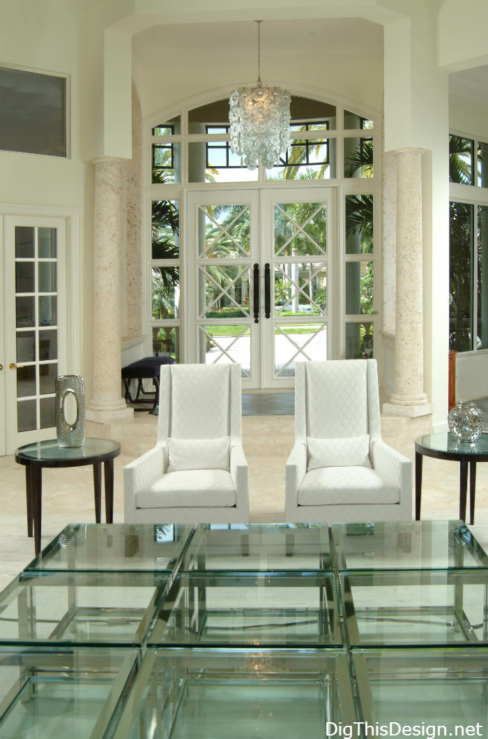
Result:
<svg viewBox="0 0 488 739"><path fill-rule="evenodd" d="M333 197L329 188L261 193L261 263L270 265L262 387L293 387L296 361L328 358Z"/></svg>

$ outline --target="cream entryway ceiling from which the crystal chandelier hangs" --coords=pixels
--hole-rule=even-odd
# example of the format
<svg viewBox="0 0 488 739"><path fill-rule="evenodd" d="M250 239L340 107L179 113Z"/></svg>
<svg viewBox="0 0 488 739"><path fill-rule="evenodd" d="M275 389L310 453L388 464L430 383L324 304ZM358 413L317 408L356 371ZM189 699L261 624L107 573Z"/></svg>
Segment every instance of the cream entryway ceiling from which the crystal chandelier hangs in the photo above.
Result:
<svg viewBox="0 0 488 739"><path fill-rule="evenodd" d="M153 26L134 35L143 64L159 66L229 58L241 62L257 55L254 21ZM382 26L362 18L264 21L261 57L382 58Z"/></svg>

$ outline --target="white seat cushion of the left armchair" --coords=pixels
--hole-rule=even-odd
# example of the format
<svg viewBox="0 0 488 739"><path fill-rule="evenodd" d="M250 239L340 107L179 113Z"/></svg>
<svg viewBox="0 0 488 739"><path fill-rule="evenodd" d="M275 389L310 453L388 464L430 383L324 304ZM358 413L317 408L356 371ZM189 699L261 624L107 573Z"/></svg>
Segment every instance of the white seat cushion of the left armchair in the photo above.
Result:
<svg viewBox="0 0 488 739"><path fill-rule="evenodd" d="M231 508L236 489L230 472L193 469L167 472L136 493L137 508Z"/></svg>

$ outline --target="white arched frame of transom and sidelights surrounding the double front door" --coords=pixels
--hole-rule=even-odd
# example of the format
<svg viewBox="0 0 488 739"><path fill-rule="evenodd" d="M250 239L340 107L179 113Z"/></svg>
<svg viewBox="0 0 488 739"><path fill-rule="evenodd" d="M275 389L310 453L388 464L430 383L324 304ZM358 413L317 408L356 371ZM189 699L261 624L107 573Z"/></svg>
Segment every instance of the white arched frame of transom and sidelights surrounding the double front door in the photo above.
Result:
<svg viewBox="0 0 488 739"><path fill-rule="evenodd" d="M270 83L280 85L279 83ZM152 329L157 326L171 326L180 328L179 344L180 356L179 361L187 361L189 355L188 346L188 330L185 330L186 316L190 316L188 311L188 296L186 294L187 283L187 264L185 255L188 250L188 236L185 222L185 213L187 207L186 194L190 191L215 191L216 194L220 190L228 189L254 189L254 188L288 188L288 187L337 187L337 273L334 279L341 285L341 298L338 301L335 313L337 319L335 321L335 330L337 330L337 353L339 358L344 358L346 353L346 323L371 323L373 324L374 334L374 357L380 361L381 342L379 341L380 323L380 306L382 305L382 118L378 111L368 108L360 103L348 100L347 98L333 95L307 86L286 85L292 95L298 95L303 98L312 98L323 103L330 103L336 107L336 129L328 129L326 131L308 131L293 132L292 137L295 138L334 138L336 140L336 177L324 180L289 180L276 181L265 180L264 167L260 165L259 179L253 183L236 182L236 183L189 183L188 182L188 143L192 141L208 141L208 140L227 140L228 134L188 134L188 111L199 106L222 100L230 95L237 86L225 87L214 90L210 93L197 95L190 98L184 103L170 108L163 109L155 115L151 115L143 123L144 148L145 156L142 163L142 182L145 199L145 217L143 219L143 250L142 259L145 265L151 264L151 202L153 200L179 200L180 213L180 232L179 232L179 268L180 268L180 305L179 319L171 319L168 321L155 321L152 319L152 299L151 299L151 271L147 267L144 270L143 294L144 294L144 316L145 326L148 326L146 348L148 354L152 355ZM281 84L283 86L283 84ZM344 111L353 111L355 114L362 116L366 120L374 122L373 129L344 129ZM163 121L171 120L177 115L180 116L180 134L173 136L153 136L152 129ZM368 137L373 139L374 146L374 177L372 178L346 178L343 177L344 172L344 156L343 156L343 140L346 137ZM180 167L181 174L179 183L153 184L152 179L152 149L153 143L165 143L171 141L180 143ZM341 177L337 175L341 174ZM374 196L374 252L372 254L347 254L346 255L346 195L349 194L373 194ZM346 262L348 261L368 261L374 262L374 313L366 315L346 316L345 313L345 281L346 281ZM168 265L173 265L173 260L168 260Z"/></svg>

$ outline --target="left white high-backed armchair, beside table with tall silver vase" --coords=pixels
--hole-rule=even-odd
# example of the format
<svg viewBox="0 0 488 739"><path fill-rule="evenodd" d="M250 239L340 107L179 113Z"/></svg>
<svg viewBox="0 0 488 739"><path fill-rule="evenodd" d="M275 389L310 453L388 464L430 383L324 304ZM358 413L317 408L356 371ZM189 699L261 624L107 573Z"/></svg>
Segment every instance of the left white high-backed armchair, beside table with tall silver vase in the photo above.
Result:
<svg viewBox="0 0 488 739"><path fill-rule="evenodd" d="M240 364L161 367L157 445L124 468L124 517L129 523L249 521Z"/></svg>

